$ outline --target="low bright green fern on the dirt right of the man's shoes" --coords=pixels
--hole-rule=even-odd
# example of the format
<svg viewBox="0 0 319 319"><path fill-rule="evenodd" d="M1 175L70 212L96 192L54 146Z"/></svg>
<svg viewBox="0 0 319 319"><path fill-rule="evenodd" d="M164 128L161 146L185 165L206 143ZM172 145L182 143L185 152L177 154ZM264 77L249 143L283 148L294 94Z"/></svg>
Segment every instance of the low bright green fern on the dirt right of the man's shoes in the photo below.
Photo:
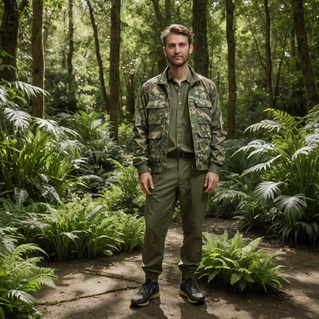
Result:
<svg viewBox="0 0 319 319"><path fill-rule="evenodd" d="M245 245L238 230L232 239L228 239L226 230L222 235L203 234L207 244L203 246L202 261L196 273L200 277L208 276L208 283L212 281L222 289L234 288L240 292L246 288L252 291L263 288L267 292L270 286L281 287L280 281L289 283L280 275L284 266L273 263L277 251L256 250L262 237Z"/></svg>

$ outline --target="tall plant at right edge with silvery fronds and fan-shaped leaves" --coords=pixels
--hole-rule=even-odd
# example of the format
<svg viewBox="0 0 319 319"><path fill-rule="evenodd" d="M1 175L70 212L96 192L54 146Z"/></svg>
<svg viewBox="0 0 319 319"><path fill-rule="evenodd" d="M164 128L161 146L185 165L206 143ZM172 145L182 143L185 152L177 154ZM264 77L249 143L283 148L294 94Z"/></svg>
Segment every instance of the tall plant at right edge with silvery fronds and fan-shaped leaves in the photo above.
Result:
<svg viewBox="0 0 319 319"><path fill-rule="evenodd" d="M274 203L282 211L268 230L278 228L282 239L291 238L297 244L308 239L312 244L318 237L319 221L319 105L304 117L293 117L276 109L266 109L273 120L263 120L246 131L261 128L273 132L271 142L256 140L236 153L250 152L248 157L268 159L245 169L242 176L264 170L264 181L254 190L261 202Z"/></svg>

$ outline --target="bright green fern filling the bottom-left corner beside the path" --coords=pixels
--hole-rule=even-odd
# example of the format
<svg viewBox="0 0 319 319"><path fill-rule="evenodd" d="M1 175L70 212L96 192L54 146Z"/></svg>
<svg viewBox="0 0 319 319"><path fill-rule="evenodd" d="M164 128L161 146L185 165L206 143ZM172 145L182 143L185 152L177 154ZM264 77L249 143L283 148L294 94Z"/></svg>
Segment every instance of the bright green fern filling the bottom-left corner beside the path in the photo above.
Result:
<svg viewBox="0 0 319 319"><path fill-rule="evenodd" d="M17 246L16 228L0 228L0 315L4 318L20 319L39 316L33 308L34 298L30 293L42 286L54 288L56 269L36 266L43 257L28 257L27 254L44 250L34 244ZM1 317L1 316L0 316Z"/></svg>

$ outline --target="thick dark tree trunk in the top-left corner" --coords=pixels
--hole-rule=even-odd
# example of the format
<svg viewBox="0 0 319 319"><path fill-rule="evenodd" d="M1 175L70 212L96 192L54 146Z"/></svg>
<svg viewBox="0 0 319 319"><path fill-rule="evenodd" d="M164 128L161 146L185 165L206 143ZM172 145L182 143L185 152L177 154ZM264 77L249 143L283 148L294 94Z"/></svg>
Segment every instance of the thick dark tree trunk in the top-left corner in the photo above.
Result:
<svg viewBox="0 0 319 319"><path fill-rule="evenodd" d="M4 8L0 27L0 51L9 53L9 55L2 57L2 63L17 68L20 14L26 6L27 0L22 0L20 4L17 0L3 0L2 2ZM0 71L0 78L7 81L15 81L16 75L17 71L12 68L4 68Z"/></svg>

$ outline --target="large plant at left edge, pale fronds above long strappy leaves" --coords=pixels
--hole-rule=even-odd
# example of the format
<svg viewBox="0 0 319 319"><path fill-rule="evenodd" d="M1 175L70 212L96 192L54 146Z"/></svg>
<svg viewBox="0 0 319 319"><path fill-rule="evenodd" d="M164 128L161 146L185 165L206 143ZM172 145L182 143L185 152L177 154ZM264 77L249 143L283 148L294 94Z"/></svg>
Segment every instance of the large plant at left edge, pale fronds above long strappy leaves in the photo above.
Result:
<svg viewBox="0 0 319 319"><path fill-rule="evenodd" d="M70 139L78 133L19 110L13 98L25 100L13 86L28 97L42 92L22 82L0 82L0 180L5 190L28 189L34 200L49 194L60 201L84 185L76 176L84 161L76 159L79 145Z"/></svg>

